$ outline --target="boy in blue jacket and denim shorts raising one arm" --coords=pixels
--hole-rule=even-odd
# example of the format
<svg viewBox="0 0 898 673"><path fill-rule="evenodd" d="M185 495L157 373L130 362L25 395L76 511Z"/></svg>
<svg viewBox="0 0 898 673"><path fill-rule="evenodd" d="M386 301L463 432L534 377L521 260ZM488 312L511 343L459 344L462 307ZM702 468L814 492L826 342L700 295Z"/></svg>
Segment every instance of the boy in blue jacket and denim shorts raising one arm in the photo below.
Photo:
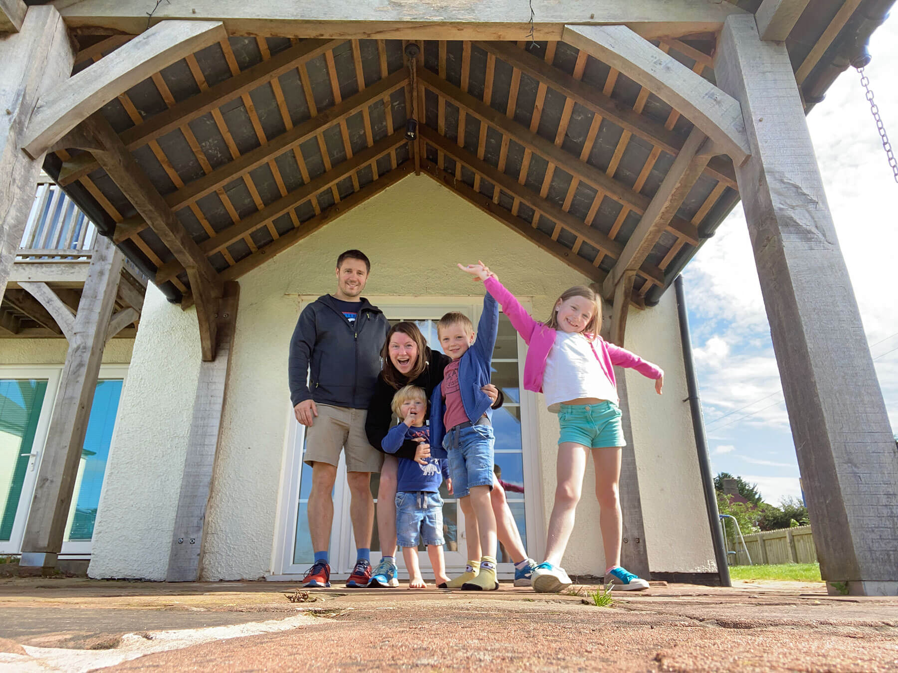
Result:
<svg viewBox="0 0 898 673"><path fill-rule="evenodd" d="M490 555L497 545L496 515L489 502L495 441L492 403L481 390L489 383L498 322L498 303L485 293L477 333L471 319L458 312L446 313L436 325L443 352L452 362L446 365L443 382L430 398L431 450L437 457L449 459L453 488L469 531L468 558L480 556L480 568L468 568L449 584L452 588L461 583L462 590L499 588L496 557Z"/></svg>

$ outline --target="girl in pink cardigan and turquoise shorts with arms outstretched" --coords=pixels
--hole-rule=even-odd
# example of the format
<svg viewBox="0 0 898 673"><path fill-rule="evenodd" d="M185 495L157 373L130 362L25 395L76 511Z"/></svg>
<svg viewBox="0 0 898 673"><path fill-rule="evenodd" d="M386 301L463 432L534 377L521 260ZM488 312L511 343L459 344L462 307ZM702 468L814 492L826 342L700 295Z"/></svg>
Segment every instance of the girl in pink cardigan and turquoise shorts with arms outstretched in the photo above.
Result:
<svg viewBox="0 0 898 673"><path fill-rule="evenodd" d="M605 582L619 590L643 590L648 582L621 568L621 447L626 445L618 408L614 365L631 367L655 380L661 394L664 371L637 354L609 344L599 336L602 300L577 285L561 294L550 318L534 320L482 262L463 271L486 285L518 334L529 346L524 362L524 388L541 392L549 410L559 415L558 486L549 520L546 559L533 570L533 589L557 592L571 585L561 557L574 529L574 513L583 488L586 455L592 450L595 497L605 552Z"/></svg>

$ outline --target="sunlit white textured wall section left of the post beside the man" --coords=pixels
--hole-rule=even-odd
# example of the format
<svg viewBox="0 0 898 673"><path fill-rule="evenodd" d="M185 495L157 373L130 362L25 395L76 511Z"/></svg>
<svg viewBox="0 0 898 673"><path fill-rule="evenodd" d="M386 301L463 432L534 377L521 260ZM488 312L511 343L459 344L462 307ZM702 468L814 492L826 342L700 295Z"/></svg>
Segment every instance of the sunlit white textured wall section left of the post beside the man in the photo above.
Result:
<svg viewBox="0 0 898 673"><path fill-rule="evenodd" d="M165 579L200 362L195 310L146 289L88 573Z"/></svg>

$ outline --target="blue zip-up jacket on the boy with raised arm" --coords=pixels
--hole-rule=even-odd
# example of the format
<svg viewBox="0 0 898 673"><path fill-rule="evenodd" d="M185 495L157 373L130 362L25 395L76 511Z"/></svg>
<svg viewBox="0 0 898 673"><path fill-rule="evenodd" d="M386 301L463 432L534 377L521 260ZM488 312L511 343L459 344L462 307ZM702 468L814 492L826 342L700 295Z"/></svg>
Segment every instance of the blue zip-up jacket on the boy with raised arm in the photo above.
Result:
<svg viewBox="0 0 898 673"><path fill-rule="evenodd" d="M496 345L496 334L499 327L499 305L493 295L483 295L483 313L477 325L477 339L458 365L458 387L462 393L462 406L471 423L486 414L490 422L493 410L491 402L481 388L489 383L492 376L493 347ZM443 384L440 383L430 397L430 455L435 458L447 458L443 449L443 438L446 429L443 426L445 403L443 401Z"/></svg>

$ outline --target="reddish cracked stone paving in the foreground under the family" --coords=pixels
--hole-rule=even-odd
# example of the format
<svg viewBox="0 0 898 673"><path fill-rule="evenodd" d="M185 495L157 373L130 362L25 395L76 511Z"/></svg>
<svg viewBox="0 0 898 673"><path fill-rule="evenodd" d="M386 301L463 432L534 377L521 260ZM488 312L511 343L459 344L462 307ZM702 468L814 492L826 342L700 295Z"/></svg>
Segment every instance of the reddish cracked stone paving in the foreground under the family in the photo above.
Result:
<svg viewBox="0 0 898 673"><path fill-rule="evenodd" d="M12 579L0 669L898 670L898 598L737 585L653 586L603 608L510 586L293 603L289 583Z"/></svg>

